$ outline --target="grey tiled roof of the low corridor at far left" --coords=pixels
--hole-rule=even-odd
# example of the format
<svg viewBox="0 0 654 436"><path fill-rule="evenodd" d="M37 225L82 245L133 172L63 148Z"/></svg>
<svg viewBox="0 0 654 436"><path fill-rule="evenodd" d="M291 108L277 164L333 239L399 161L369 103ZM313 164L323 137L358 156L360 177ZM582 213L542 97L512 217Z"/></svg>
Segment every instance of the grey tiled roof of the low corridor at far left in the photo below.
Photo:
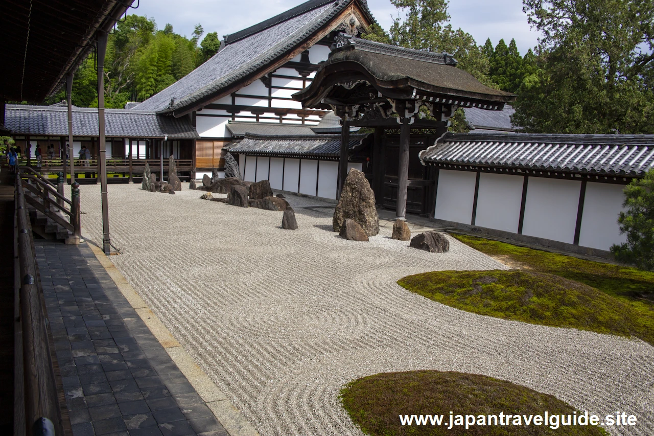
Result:
<svg viewBox="0 0 654 436"><path fill-rule="evenodd" d="M5 124L15 134L65 136L66 107L7 105ZM198 139L188 117L157 115L154 111L105 109L105 132L110 137L164 137ZM97 109L73 107L73 135L98 136Z"/></svg>

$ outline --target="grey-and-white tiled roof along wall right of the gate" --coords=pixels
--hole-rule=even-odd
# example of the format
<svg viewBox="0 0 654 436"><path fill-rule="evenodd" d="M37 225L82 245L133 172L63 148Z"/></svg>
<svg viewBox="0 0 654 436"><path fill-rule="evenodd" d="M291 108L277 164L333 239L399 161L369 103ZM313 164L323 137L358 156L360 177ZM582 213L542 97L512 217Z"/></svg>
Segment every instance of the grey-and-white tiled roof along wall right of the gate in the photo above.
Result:
<svg viewBox="0 0 654 436"><path fill-rule="evenodd" d="M426 164L465 164L640 176L654 166L654 135L445 134Z"/></svg>

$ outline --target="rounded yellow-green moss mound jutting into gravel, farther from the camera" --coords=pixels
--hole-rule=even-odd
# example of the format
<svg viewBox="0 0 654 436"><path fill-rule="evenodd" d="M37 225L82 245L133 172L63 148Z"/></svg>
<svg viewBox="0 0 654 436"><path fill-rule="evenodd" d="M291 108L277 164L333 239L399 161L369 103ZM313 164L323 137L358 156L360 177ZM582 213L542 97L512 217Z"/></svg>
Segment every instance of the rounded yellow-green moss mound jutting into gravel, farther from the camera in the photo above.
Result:
<svg viewBox="0 0 654 436"><path fill-rule="evenodd" d="M654 315L553 274L521 270L438 271L408 276L398 283L422 297L479 315L605 333L638 336L654 344Z"/></svg>

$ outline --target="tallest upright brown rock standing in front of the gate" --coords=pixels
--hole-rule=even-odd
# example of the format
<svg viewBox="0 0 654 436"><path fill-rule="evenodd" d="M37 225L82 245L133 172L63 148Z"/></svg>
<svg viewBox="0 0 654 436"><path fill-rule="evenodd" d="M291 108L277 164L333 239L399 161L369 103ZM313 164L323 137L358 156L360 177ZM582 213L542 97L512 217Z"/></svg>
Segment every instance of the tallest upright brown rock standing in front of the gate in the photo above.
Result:
<svg viewBox="0 0 654 436"><path fill-rule="evenodd" d="M366 175L356 168L347 174L341 199L334 211L334 232L340 232L346 219L356 221L367 236L379 233L379 215L375 209L375 192L372 191Z"/></svg>

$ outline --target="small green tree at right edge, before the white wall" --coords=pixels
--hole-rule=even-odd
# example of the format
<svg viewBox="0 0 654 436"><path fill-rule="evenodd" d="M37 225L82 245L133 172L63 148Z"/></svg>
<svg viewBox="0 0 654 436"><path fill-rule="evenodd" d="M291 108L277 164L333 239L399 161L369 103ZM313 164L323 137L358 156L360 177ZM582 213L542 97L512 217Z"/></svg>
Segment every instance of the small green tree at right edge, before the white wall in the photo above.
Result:
<svg viewBox="0 0 654 436"><path fill-rule="evenodd" d="M635 264L644 270L654 269L654 170L643 179L634 179L625 188L626 211L620 212L618 223L627 242L613 245L611 252L621 262Z"/></svg>

